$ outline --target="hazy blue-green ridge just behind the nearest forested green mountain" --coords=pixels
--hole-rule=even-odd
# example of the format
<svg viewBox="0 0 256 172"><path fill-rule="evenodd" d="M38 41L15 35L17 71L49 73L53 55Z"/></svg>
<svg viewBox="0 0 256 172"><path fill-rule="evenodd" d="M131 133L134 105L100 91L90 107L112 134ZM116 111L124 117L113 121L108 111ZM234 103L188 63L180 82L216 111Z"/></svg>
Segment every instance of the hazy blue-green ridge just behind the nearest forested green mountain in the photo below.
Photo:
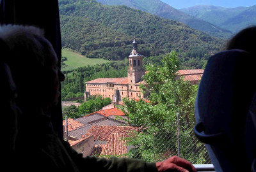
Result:
<svg viewBox="0 0 256 172"><path fill-rule="evenodd" d="M230 31L221 29L220 27L213 25L199 18L188 15L180 10L173 8L172 6L163 3L160 0L97 0L102 4L107 5L125 5L131 8L135 8L142 11L147 11L159 17L177 20L186 25L189 25L193 29L204 31L211 36L217 36L220 38L228 38Z"/></svg>

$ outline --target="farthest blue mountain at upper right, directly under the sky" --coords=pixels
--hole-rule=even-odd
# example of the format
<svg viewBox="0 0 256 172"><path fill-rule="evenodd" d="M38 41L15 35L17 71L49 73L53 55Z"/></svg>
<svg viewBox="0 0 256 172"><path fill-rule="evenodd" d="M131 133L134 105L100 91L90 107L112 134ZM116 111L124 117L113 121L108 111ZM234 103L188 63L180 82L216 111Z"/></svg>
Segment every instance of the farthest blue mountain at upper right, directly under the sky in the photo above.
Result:
<svg viewBox="0 0 256 172"><path fill-rule="evenodd" d="M256 5L237 8L199 5L180 10L232 32L240 31L250 25L256 25Z"/></svg>

